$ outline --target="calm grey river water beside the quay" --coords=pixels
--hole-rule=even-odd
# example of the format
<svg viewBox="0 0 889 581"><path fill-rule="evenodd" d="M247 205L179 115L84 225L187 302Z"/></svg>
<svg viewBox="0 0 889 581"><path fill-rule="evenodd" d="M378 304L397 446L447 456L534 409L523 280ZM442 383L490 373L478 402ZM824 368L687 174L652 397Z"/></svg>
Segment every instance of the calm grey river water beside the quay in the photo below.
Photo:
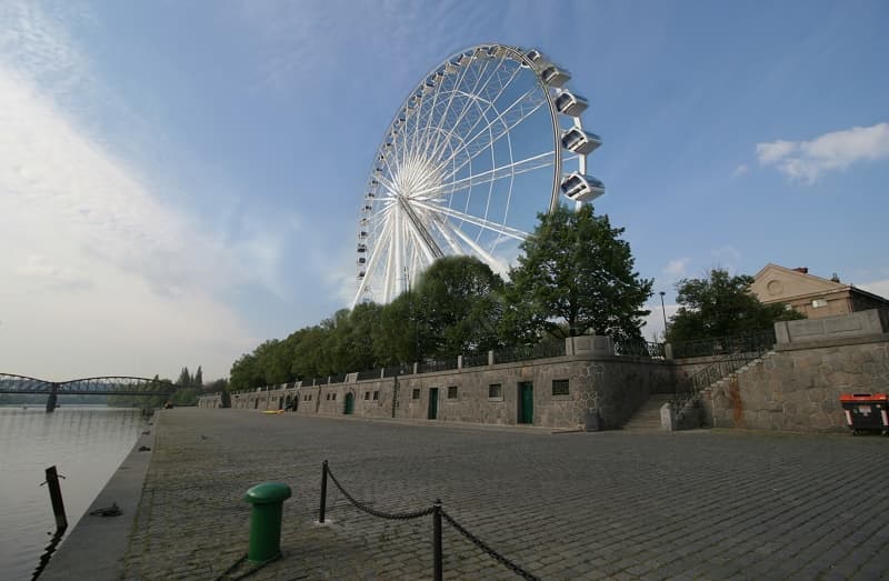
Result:
<svg viewBox="0 0 889 581"><path fill-rule="evenodd" d="M58 467L68 533L136 444L137 409L0 407L0 578L31 579L56 530L44 471ZM64 541L62 541L63 543Z"/></svg>

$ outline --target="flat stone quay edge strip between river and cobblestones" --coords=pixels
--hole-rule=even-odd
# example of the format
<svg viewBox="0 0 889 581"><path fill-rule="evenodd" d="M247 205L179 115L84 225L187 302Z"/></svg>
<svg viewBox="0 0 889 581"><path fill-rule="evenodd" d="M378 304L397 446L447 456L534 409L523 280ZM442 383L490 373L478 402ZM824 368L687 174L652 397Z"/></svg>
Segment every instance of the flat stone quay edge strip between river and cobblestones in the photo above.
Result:
<svg viewBox="0 0 889 581"><path fill-rule="evenodd" d="M127 458L97 494L77 525L67 534L40 575L40 581L119 579L123 573L132 522L142 498L148 468L160 428L160 410L154 411ZM144 433L148 432L148 433ZM147 447L150 450L140 451ZM63 493L64 491L62 491ZM89 513L117 503L120 517L91 517Z"/></svg>

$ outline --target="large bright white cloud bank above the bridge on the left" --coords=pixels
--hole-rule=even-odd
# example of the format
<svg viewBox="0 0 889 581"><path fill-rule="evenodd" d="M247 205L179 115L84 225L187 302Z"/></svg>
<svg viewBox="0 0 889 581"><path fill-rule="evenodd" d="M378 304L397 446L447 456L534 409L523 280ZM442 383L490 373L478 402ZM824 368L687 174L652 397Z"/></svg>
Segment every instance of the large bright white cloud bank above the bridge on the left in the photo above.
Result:
<svg viewBox="0 0 889 581"><path fill-rule="evenodd" d="M242 276L224 248L3 60L0 127L0 369L227 374L256 340L207 290Z"/></svg>

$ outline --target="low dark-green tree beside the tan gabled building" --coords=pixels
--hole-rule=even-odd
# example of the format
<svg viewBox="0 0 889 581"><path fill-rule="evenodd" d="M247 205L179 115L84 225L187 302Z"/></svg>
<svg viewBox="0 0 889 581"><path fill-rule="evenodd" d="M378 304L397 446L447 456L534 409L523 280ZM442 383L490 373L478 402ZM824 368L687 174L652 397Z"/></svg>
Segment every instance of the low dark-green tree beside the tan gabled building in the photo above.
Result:
<svg viewBox="0 0 889 581"><path fill-rule="evenodd" d="M763 304L750 292L753 277L732 277L713 269L706 279L682 279L676 284L681 304L670 317L668 341L691 341L768 329L775 321L805 319L785 304Z"/></svg>

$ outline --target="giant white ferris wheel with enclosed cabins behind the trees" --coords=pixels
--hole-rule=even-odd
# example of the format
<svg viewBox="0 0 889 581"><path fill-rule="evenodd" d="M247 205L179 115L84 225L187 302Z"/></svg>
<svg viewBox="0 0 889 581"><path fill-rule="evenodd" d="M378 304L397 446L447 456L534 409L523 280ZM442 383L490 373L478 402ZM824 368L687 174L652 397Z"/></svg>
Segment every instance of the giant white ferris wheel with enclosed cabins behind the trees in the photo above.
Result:
<svg viewBox="0 0 889 581"><path fill-rule="evenodd" d="M363 192L352 307L391 301L444 256L503 272L560 193L578 204L605 193L587 174L601 140L570 78L539 50L481 44L410 91Z"/></svg>

